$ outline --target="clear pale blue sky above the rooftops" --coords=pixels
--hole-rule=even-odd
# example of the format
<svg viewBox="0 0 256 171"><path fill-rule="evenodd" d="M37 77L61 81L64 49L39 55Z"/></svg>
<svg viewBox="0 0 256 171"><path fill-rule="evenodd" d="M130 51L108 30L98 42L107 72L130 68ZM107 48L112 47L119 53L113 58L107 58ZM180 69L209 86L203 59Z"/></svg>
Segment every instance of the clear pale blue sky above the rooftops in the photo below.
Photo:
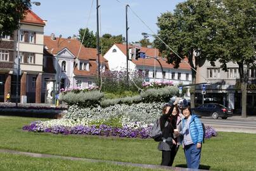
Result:
<svg viewBox="0 0 256 171"><path fill-rule="evenodd" d="M119 2L118 2L119 1ZM148 27L157 33L157 17L173 11L176 4L184 0L99 0L101 35L112 34L125 37L125 4L131 6ZM32 11L42 20L47 20L44 35L54 33L56 37L78 35L80 28L88 27L96 32L96 0L39 0L41 6L32 4ZM93 8L91 10L91 4ZM128 40L143 39L142 32L153 34L128 8ZM91 10L91 16L89 13ZM89 21L89 22L87 22ZM151 39L152 41L152 39Z"/></svg>

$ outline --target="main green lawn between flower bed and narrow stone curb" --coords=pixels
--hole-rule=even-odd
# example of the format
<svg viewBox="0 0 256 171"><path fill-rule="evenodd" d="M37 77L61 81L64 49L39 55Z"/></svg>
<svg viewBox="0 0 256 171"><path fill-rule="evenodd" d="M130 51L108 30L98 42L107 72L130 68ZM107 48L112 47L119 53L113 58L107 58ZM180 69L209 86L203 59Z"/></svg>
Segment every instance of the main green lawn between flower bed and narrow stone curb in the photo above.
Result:
<svg viewBox="0 0 256 171"><path fill-rule="evenodd" d="M23 125L35 120L38 119L0 117L0 148L120 162L155 165L161 162L162 154L157 150L157 143L151 139L62 136L22 131ZM217 137L203 144L202 168L256 170L255 142L255 134L219 132ZM186 160L180 148L174 166L184 165Z"/></svg>

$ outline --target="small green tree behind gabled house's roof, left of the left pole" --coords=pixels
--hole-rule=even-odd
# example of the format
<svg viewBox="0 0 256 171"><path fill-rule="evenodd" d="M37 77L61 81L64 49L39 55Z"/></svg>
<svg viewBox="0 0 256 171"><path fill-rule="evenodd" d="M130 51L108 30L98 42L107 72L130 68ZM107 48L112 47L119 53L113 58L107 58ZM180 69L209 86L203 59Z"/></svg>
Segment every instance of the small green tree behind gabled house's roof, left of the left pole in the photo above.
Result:
<svg viewBox="0 0 256 171"><path fill-rule="evenodd" d="M85 35L84 35L85 34ZM84 36L84 41L82 42L82 37ZM80 28L79 30L79 41L85 47L96 48L96 35L89 28Z"/></svg>

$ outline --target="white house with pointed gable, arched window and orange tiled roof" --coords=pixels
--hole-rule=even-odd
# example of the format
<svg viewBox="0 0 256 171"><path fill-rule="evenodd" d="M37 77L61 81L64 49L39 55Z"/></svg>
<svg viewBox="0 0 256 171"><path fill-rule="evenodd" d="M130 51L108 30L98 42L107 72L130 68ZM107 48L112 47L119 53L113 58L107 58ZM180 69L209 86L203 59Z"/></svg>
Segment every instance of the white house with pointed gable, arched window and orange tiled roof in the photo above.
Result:
<svg viewBox="0 0 256 171"><path fill-rule="evenodd" d="M98 70L97 50L81 45L76 38L65 39L44 36L44 59L52 59L56 74L54 79L60 89L86 88L96 85ZM100 56L102 72L108 70L108 61ZM44 76L49 78L49 74Z"/></svg>

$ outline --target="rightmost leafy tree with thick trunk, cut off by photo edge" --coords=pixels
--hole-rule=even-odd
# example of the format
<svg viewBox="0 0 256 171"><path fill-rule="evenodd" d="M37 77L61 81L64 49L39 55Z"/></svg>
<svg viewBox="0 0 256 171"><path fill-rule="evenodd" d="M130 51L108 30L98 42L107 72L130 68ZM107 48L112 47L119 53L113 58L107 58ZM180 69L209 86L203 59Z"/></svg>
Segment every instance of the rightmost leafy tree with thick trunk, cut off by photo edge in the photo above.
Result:
<svg viewBox="0 0 256 171"><path fill-rule="evenodd" d="M246 117L249 68L256 61L256 1L222 0L219 6L219 46L222 47L222 67L233 61L239 66L242 95L241 117Z"/></svg>

